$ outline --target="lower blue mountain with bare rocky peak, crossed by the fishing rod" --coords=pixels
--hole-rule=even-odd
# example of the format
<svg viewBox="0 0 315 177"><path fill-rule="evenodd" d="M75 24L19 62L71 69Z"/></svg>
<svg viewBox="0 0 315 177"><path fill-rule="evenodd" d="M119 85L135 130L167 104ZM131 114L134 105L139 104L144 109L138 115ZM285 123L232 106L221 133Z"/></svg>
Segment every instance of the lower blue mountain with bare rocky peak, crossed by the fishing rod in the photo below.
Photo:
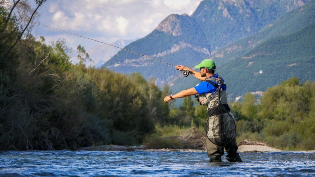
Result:
<svg viewBox="0 0 315 177"><path fill-rule="evenodd" d="M187 14L169 15L150 34L130 43L125 49L171 64L178 64L175 58L181 58L181 62L189 65L195 63L195 57L205 58L211 52L203 30ZM121 50L103 66L126 74L140 72L147 79L154 75L157 83L162 84L169 79L168 71L171 69L169 66L156 64L152 59Z"/></svg>

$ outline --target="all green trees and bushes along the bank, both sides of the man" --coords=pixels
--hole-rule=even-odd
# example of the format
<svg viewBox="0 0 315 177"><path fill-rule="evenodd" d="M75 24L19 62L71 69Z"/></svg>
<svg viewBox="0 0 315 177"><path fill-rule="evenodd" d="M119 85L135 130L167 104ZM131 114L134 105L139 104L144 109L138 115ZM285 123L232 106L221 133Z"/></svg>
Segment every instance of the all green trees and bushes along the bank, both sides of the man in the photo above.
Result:
<svg viewBox="0 0 315 177"><path fill-rule="evenodd" d="M16 8L27 19L32 10L22 3ZM10 14L3 6L0 11ZM147 81L139 73L126 76L87 66L90 58L82 46L72 64L65 40L47 45L22 23L0 18L1 150L142 143L150 148L202 148L207 112L191 97L180 107L164 103L168 86L160 89L153 78ZM314 148L314 82L291 78L268 88L258 101L248 93L230 105L238 141ZM189 127L195 128L188 137Z"/></svg>

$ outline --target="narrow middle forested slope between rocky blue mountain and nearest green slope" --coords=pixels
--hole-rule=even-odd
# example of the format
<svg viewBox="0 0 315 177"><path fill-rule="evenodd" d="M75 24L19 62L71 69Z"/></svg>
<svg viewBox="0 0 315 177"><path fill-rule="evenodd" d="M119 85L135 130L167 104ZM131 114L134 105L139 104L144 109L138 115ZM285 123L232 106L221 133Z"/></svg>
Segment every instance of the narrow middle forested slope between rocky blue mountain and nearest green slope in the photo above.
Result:
<svg viewBox="0 0 315 177"><path fill-rule="evenodd" d="M258 33L243 37L221 49L213 52L210 58L216 61L218 66L241 57L257 44L272 37L287 35L304 28L315 21L315 1L305 6L292 10L278 19L268 23Z"/></svg>

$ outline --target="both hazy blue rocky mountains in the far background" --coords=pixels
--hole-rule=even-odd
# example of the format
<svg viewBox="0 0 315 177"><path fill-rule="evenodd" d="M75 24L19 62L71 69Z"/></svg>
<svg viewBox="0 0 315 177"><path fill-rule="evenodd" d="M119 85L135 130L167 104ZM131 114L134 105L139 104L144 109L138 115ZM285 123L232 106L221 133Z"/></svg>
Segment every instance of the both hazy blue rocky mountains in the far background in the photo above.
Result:
<svg viewBox="0 0 315 177"><path fill-rule="evenodd" d="M150 34L125 48L170 64L193 66L211 52L257 33L264 25L307 2L204 0L192 16L171 14ZM167 65L126 51L119 51L102 67L125 74L140 72L146 79L155 77L159 85L171 80L174 74Z"/></svg>

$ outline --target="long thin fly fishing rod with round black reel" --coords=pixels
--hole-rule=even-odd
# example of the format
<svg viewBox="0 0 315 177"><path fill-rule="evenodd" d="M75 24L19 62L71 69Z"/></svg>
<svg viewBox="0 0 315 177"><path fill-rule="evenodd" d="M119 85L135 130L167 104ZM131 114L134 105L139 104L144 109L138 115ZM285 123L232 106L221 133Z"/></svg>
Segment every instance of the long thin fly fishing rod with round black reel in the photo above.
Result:
<svg viewBox="0 0 315 177"><path fill-rule="evenodd" d="M2 15L2 14L1 14L1 15ZM2 16L3 16L3 17L7 17L7 18L13 18L13 17L5 16L5 15L2 15ZM22 20L22 21L26 21L26 20ZM27 21L26 21L26 22L27 22ZM125 48L122 48L122 47L118 47L118 46L114 46L114 45L112 45L112 44L108 44L108 43L105 43L105 42L102 42L102 41L98 41L98 40L96 40L96 39L92 39L92 38L89 38L89 37L81 36L81 35L78 35L78 34L75 34L75 33L71 33L71 32L67 32L67 31L64 31L64 30L59 30L59 29L57 29L57 28L53 28L53 27L50 27L50 26L41 25L41 24L36 23L36 22L33 22L33 21L31 21L31 23L32 23L32 24L35 24L35 25L40 25L40 26L44 26L44 27L47 27L47 28L51 28L51 29L54 29L54 30L58 30L58 31L61 31L61 32L64 32L64 33L72 34L72 35L75 35L75 36L83 37L83 38L86 38L86 39L89 39L89 40L92 40L92 41L100 42L100 43L102 43L102 44L106 44L106 45L109 45L109 46L112 46L112 47L117 47L117 48L122 49L122 50L125 50L125 51L127 51L127 52L135 53L135 54L137 54L137 55L141 55L141 56L143 56L143 57L156 60L156 61L158 61L158 62L160 62L160 63L167 64L167 65L173 66L173 67L175 67L175 68L179 68L179 66L176 66L176 65L174 65L174 64L169 64L169 63L164 62L164 61L162 61L162 60L158 60L158 59L156 59L156 58L152 58L152 57L149 57L149 56L147 56L147 55L144 55L144 54L141 54L141 53L137 53L137 52L133 52L133 51L131 51L131 50L128 50L128 49L125 49ZM183 72L184 77L187 77L187 76L189 75L189 73L192 73L192 71L186 69L186 70Z"/></svg>

